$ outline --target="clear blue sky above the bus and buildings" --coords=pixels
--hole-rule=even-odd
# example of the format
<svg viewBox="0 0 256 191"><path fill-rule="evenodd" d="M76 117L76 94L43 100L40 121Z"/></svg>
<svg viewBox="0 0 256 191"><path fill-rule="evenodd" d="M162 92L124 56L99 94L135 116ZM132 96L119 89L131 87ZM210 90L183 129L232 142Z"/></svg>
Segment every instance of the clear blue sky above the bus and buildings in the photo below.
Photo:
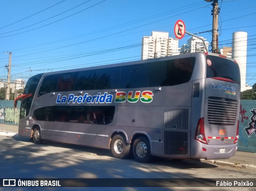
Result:
<svg viewBox="0 0 256 191"><path fill-rule="evenodd" d="M219 47L248 33L246 83L256 83L256 0L219 0ZM0 79L138 60L143 36L186 30L211 42L211 3L204 0L0 0ZM191 36L179 40L179 47Z"/></svg>

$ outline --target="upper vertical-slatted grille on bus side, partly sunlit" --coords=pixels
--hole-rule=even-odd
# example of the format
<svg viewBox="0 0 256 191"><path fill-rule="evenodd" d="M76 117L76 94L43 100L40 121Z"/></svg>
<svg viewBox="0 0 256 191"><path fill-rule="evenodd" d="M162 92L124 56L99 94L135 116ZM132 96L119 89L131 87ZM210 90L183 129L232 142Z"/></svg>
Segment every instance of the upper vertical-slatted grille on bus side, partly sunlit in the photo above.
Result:
<svg viewBox="0 0 256 191"><path fill-rule="evenodd" d="M188 129L188 109L176 109L164 112L164 128Z"/></svg>

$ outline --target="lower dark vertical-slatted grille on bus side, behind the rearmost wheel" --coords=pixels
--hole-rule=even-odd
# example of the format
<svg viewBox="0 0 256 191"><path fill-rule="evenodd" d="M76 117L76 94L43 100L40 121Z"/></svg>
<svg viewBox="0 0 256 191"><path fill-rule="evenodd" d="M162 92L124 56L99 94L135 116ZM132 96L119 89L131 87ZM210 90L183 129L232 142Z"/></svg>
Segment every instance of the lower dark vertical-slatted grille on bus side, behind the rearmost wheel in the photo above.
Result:
<svg viewBox="0 0 256 191"><path fill-rule="evenodd" d="M188 153L188 132L164 131L164 154L186 155Z"/></svg>

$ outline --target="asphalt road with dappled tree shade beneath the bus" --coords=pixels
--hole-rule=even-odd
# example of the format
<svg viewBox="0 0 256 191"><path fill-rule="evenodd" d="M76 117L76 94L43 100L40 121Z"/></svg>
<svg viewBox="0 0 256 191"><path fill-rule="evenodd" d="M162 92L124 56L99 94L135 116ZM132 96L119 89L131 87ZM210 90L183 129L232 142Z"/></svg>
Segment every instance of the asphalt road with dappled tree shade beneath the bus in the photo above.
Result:
<svg viewBox="0 0 256 191"><path fill-rule="evenodd" d="M155 159L153 163L138 163L134 159L112 158L109 150L98 148L44 142L38 145L28 138L19 136L0 136L0 178L256 178L253 169L236 169L234 167L218 166L194 160L174 161L170 159ZM243 180L244 180L243 179ZM106 180L106 179L105 179ZM113 179L112 179L113 181ZM190 187L189 183L183 182ZM99 181L100 184L100 181ZM182 186L184 186L182 185ZM218 188L72 188L70 190L174 190L196 191L216 190ZM252 191L254 188L225 187L218 190ZM6 190L6 188L0 188ZM69 190L69 188L9 188L9 190Z"/></svg>

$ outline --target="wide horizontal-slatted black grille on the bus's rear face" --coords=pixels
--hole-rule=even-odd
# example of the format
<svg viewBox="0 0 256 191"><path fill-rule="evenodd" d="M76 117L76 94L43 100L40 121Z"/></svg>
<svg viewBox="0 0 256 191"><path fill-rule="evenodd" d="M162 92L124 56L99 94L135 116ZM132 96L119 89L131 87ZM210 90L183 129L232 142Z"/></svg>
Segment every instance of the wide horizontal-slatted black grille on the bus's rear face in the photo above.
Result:
<svg viewBox="0 0 256 191"><path fill-rule="evenodd" d="M209 97L207 106L209 124L231 126L236 123L237 100Z"/></svg>

